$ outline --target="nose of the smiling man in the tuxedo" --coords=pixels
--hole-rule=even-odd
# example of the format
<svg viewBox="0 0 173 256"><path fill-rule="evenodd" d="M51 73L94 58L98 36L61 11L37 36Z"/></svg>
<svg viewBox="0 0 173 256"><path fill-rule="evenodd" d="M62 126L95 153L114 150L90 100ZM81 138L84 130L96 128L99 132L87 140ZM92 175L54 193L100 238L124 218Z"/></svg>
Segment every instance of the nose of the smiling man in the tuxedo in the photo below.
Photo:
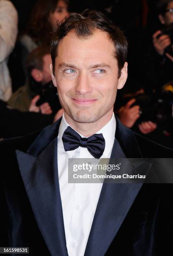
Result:
<svg viewBox="0 0 173 256"><path fill-rule="evenodd" d="M75 91L80 95L85 95L87 93L92 92L92 86L89 82L89 77L87 76L87 74L79 75L76 81Z"/></svg>

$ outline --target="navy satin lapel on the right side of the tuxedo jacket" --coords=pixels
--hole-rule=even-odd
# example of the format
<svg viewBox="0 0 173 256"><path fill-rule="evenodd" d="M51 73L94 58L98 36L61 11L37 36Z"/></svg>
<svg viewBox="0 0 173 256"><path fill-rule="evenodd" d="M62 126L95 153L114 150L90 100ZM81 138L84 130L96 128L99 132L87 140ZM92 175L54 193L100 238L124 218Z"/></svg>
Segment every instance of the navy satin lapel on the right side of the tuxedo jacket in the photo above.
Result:
<svg viewBox="0 0 173 256"><path fill-rule="evenodd" d="M117 120L116 134L111 158L142 157L134 134L126 130L119 120ZM122 151L122 148L125 148L125 151ZM142 183L103 184L85 256L102 256L106 253L141 187Z"/></svg>

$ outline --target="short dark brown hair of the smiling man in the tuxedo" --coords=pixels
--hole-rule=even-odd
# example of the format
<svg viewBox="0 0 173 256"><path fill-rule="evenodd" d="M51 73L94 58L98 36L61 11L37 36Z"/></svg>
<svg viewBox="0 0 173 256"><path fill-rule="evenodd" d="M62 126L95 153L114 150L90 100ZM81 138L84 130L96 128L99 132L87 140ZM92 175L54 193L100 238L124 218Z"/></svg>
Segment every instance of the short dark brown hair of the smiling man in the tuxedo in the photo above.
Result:
<svg viewBox="0 0 173 256"><path fill-rule="evenodd" d="M58 24L57 31L53 34L51 41L51 58L53 64L53 74L55 71L55 59L58 54L60 41L72 30L78 38L87 39L94 31L99 29L108 34L115 46L115 58L118 62L118 77L127 59L127 40L123 32L97 10L84 10L83 13L71 13L64 23Z"/></svg>

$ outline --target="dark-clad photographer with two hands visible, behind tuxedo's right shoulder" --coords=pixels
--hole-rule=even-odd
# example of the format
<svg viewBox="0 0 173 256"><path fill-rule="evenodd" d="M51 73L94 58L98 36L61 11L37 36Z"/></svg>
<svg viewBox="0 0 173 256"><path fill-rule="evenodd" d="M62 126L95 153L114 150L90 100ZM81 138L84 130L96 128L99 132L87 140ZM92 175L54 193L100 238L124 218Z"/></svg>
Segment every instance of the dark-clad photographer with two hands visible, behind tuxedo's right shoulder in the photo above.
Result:
<svg viewBox="0 0 173 256"><path fill-rule="evenodd" d="M132 131L163 146L173 148L173 81L160 93L146 93L143 88L123 95L114 112Z"/></svg>

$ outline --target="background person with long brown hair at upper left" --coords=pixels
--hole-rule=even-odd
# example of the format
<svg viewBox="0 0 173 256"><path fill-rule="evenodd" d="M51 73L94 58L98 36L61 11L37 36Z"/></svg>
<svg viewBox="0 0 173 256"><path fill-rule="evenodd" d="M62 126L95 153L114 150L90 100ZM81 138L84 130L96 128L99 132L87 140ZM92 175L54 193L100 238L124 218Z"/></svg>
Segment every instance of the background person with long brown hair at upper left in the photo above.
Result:
<svg viewBox="0 0 173 256"><path fill-rule="evenodd" d="M38 46L50 45L53 27L69 15L68 6L69 0L37 1L26 32L20 38L24 71L28 54Z"/></svg>

